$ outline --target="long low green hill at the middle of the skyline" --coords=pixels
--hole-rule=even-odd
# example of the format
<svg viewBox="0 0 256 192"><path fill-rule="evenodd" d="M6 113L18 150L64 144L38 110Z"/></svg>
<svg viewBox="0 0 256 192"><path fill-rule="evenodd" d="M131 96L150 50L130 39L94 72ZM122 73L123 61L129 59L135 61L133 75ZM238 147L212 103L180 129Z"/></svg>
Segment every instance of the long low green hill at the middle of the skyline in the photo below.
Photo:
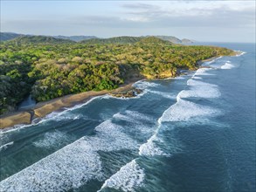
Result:
<svg viewBox="0 0 256 192"><path fill-rule="evenodd" d="M92 38L83 40L80 43L83 44L134 44L139 42L142 37L129 37L129 36L121 36L115 38Z"/></svg>

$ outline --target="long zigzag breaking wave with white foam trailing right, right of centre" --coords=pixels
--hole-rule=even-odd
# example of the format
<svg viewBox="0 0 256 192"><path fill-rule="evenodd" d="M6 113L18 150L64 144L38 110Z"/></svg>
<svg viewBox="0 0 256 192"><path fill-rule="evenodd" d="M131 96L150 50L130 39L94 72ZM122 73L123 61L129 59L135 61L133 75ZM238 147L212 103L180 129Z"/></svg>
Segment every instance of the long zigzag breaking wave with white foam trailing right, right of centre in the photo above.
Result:
<svg viewBox="0 0 256 192"><path fill-rule="evenodd" d="M220 93L218 86L204 83L203 81L195 80L202 79L197 78L197 75L211 75L207 71L211 71L210 68L200 68L195 72L191 79L187 81L189 89L185 89L177 94L176 103L170 106L163 112L163 115L158 119L158 127L156 128L155 134L153 134L149 140L142 144L139 148L139 154L145 156L163 155L170 156L169 153L165 153L164 150L158 147L157 143L163 143L159 136L159 131L163 129L163 122L170 121L187 121L195 120L198 117L213 116L219 112L218 109L211 108L210 106L202 106L183 98L198 97L198 98L218 98ZM171 127L168 127L171 130ZM171 150L179 150L180 147L172 146Z"/></svg>

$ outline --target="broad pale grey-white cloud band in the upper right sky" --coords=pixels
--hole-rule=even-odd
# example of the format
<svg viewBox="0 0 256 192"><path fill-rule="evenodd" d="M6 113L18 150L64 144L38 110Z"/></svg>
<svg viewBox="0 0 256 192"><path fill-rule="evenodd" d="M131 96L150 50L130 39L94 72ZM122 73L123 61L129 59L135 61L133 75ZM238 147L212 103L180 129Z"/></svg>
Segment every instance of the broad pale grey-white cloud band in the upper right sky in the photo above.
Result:
<svg viewBox="0 0 256 192"><path fill-rule="evenodd" d="M128 15L127 17L142 17L144 21L156 27L254 27L254 8L252 6L239 8L238 6L228 6L222 3L215 6L202 7L197 7L193 4L193 6L182 8L176 7L175 4L173 7L157 7L154 10L128 10L126 14Z"/></svg>

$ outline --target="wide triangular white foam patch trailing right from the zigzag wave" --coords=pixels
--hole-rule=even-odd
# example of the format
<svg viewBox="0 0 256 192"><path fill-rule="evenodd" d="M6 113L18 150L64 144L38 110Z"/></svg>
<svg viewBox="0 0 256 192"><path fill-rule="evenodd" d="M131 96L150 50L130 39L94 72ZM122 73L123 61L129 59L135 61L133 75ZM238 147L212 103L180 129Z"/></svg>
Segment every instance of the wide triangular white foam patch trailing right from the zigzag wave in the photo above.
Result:
<svg viewBox="0 0 256 192"><path fill-rule="evenodd" d="M217 109L213 109L209 106L201 106L190 101L178 99L175 105L170 106L170 108L163 113L162 121L190 120L198 116L210 116L218 113L219 111Z"/></svg>

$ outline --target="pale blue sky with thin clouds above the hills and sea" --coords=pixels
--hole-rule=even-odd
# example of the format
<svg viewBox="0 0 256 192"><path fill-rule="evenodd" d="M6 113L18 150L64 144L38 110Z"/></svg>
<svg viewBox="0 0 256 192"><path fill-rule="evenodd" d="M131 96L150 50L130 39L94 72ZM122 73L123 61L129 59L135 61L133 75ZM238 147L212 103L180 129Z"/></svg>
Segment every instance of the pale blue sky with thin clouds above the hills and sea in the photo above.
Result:
<svg viewBox="0 0 256 192"><path fill-rule="evenodd" d="M1 0L1 32L255 42L255 0Z"/></svg>

